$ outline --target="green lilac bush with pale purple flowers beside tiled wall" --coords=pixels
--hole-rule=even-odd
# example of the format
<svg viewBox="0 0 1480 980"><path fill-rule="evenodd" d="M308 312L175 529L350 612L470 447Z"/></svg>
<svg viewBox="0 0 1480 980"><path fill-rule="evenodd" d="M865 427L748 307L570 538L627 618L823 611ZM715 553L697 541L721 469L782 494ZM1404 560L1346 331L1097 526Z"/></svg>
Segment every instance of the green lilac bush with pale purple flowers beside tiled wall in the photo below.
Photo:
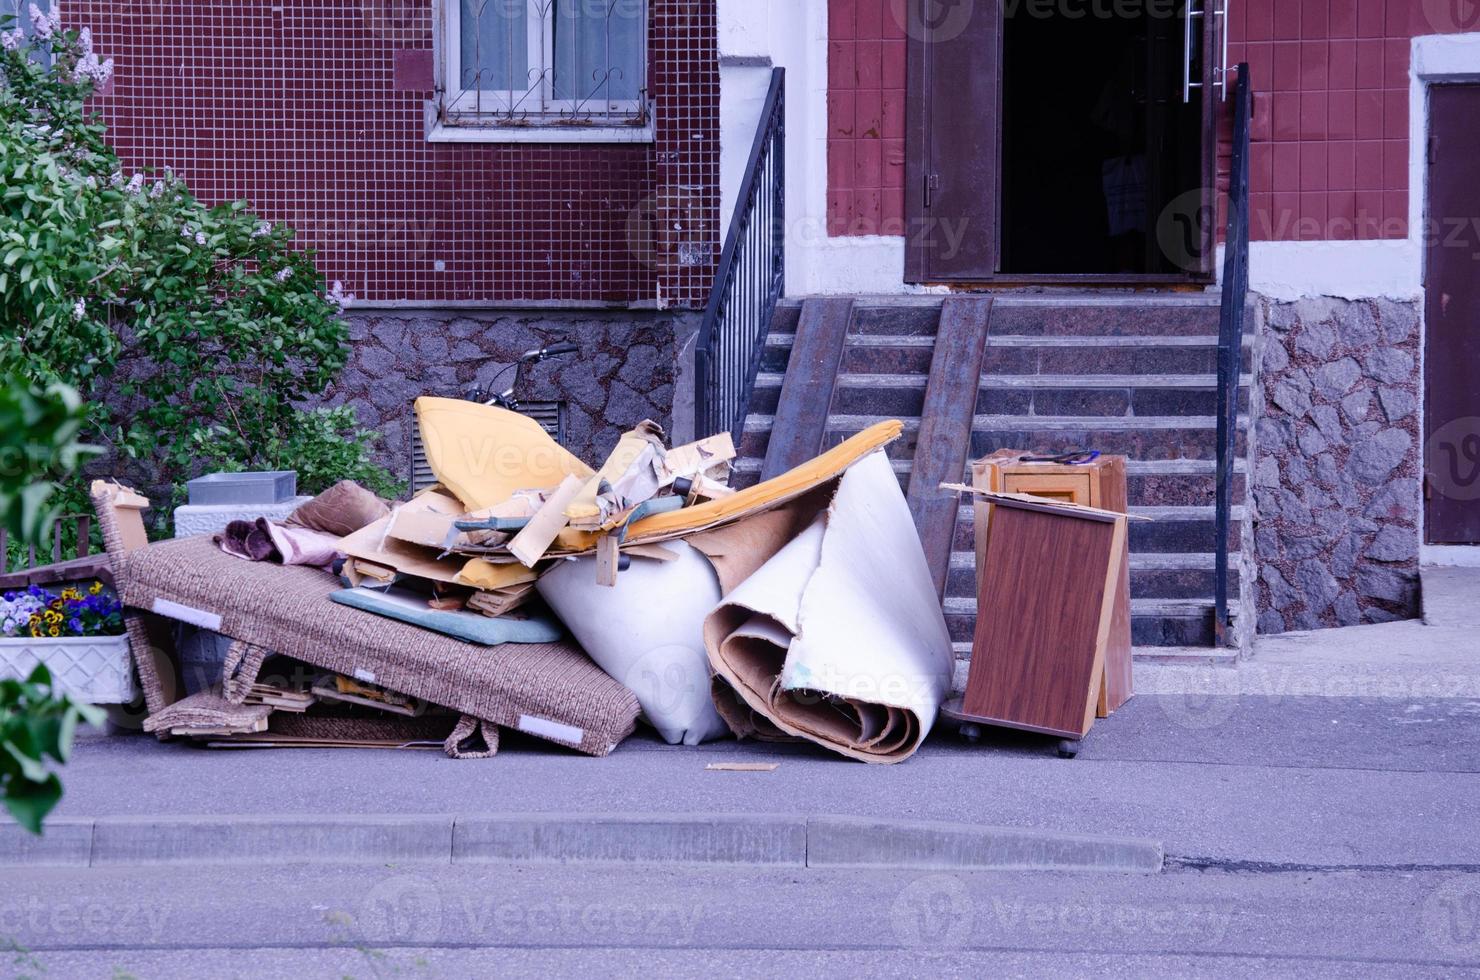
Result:
<svg viewBox="0 0 1480 980"><path fill-rule="evenodd" d="M392 487L371 434L300 407L348 357L351 298L314 253L244 203L207 206L169 172L126 172L86 108L111 73L86 31L46 16L31 40L0 31L0 373L83 391L89 435L147 484L269 459L299 468L284 453L305 449L305 490L340 477ZM74 486L68 503L83 502Z"/></svg>

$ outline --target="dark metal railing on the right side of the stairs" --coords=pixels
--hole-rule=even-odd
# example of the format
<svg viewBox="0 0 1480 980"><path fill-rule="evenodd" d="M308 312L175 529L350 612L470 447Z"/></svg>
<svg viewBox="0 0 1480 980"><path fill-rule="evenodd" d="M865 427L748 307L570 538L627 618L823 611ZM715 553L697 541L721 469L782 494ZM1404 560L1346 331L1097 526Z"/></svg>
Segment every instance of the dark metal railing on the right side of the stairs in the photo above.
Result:
<svg viewBox="0 0 1480 980"><path fill-rule="evenodd" d="M1218 486L1214 533L1214 631L1228 628L1228 528L1233 523L1233 471L1239 435L1239 376L1249 298L1249 65L1239 65L1233 104L1233 161L1228 169L1228 235L1222 264L1222 312L1218 318Z"/></svg>

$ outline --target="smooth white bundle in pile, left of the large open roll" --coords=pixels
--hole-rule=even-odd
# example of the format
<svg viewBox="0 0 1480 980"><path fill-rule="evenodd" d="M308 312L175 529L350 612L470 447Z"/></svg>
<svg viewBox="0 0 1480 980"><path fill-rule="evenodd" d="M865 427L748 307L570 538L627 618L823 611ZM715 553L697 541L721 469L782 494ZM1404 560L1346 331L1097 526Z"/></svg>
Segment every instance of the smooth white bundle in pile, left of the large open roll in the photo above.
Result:
<svg viewBox="0 0 1480 980"><path fill-rule="evenodd" d="M559 561L539 592L591 659L638 696L669 745L728 734L709 697L704 616L719 603L709 563L682 542L672 561L633 557L616 586L596 582L595 558Z"/></svg>

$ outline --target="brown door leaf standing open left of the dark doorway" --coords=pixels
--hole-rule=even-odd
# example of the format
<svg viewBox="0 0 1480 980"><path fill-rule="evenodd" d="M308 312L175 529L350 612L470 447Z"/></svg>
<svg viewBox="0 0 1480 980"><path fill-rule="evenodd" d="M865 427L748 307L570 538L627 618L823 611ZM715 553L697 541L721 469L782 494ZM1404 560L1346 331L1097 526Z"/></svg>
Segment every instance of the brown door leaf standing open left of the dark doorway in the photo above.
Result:
<svg viewBox="0 0 1480 980"><path fill-rule="evenodd" d="M904 280L990 280L998 271L1002 3L906 3Z"/></svg>

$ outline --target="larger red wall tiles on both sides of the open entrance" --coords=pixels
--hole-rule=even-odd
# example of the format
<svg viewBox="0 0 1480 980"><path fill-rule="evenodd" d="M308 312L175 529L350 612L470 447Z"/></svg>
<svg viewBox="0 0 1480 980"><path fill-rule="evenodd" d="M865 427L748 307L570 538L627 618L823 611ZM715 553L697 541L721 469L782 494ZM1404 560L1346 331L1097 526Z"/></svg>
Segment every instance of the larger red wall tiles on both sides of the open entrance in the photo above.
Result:
<svg viewBox="0 0 1480 980"><path fill-rule="evenodd" d="M833 235L900 234L906 41L894 13L898 6L829 4ZM1480 7L1465 0L1228 0L1228 6L1230 61L1249 62L1258 93L1254 237L1406 237L1409 41L1418 34L1480 30Z"/></svg>

